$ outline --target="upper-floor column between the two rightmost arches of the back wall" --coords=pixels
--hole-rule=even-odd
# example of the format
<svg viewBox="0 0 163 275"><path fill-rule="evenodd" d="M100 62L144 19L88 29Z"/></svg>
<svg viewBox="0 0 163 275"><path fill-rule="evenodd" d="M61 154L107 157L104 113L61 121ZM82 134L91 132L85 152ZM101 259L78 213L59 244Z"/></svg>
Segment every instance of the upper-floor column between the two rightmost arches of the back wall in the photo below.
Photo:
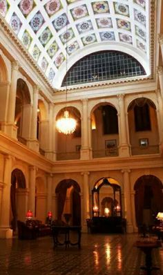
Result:
<svg viewBox="0 0 163 275"><path fill-rule="evenodd" d="M129 144L127 139L127 126L126 126L126 116L124 109L124 95L117 95L119 101L119 156L128 157Z"/></svg>

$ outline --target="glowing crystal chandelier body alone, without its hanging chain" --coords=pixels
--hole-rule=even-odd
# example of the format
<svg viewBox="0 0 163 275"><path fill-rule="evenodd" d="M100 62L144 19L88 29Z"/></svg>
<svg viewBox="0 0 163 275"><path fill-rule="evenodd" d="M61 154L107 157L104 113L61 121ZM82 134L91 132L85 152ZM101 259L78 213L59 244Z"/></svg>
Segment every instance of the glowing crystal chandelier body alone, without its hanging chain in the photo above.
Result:
<svg viewBox="0 0 163 275"><path fill-rule="evenodd" d="M57 120L57 129L59 133L64 133L65 135L73 133L76 126L76 120L73 117L69 117L68 111L64 111L64 116Z"/></svg>

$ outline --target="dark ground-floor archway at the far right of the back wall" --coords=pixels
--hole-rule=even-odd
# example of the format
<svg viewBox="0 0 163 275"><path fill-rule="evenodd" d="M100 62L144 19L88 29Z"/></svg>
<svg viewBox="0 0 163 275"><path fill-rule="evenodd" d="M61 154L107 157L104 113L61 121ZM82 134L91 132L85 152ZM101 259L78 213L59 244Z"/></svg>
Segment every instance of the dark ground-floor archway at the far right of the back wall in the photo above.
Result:
<svg viewBox="0 0 163 275"><path fill-rule="evenodd" d="M144 175L134 184L137 226L152 225L157 212L163 211L163 185L159 178Z"/></svg>

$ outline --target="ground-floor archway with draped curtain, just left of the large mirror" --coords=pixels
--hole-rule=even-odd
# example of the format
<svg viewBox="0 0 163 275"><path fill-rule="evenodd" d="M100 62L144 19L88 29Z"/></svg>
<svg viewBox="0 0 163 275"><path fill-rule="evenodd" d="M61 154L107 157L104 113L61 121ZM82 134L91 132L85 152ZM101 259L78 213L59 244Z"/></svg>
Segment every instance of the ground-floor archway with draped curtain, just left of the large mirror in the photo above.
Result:
<svg viewBox="0 0 163 275"><path fill-rule="evenodd" d="M57 193L57 220L64 220L64 214L70 214L70 224L81 225L79 184L72 179L61 180L55 192Z"/></svg>

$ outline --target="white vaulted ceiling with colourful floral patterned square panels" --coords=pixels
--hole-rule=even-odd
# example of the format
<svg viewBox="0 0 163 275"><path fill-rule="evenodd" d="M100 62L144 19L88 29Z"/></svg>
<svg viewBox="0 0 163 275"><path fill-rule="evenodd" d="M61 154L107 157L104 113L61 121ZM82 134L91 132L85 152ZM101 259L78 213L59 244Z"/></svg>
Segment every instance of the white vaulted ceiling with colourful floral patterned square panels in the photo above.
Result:
<svg viewBox="0 0 163 275"><path fill-rule="evenodd" d="M148 0L0 0L0 13L52 86L61 64L103 41L149 57Z"/></svg>

